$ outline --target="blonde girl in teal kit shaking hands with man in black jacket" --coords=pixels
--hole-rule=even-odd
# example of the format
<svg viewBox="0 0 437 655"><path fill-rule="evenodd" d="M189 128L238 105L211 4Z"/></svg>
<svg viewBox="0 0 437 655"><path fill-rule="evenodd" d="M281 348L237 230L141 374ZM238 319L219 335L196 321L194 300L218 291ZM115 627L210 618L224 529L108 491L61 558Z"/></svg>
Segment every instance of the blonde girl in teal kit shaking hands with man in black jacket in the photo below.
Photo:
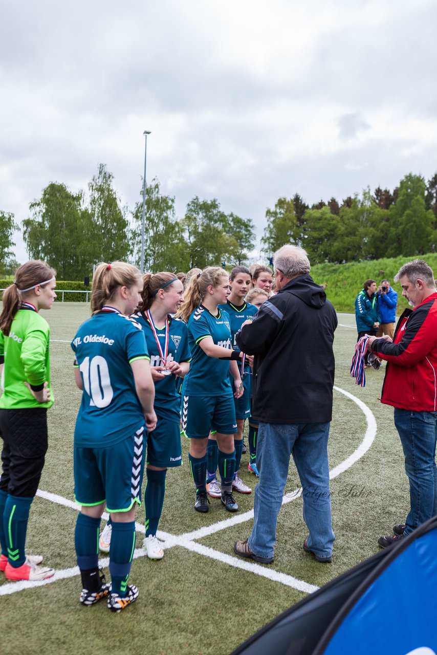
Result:
<svg viewBox="0 0 437 655"><path fill-rule="evenodd" d="M229 295L229 275L219 267L194 274L185 289L179 316L187 321L191 362L182 386L182 429L191 439L189 464L196 486L195 510L208 512L206 495L206 447L210 431L216 431L221 502L237 512L232 495L235 472L235 398L243 394L237 360L232 350L229 316L218 309ZM229 371L235 390L229 381Z"/></svg>

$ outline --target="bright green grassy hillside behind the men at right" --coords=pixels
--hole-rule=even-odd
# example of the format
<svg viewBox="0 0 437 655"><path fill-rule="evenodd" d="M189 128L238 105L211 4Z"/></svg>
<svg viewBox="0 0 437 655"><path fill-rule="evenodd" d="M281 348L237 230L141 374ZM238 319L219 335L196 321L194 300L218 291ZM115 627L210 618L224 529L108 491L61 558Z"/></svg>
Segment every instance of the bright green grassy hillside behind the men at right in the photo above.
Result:
<svg viewBox="0 0 437 655"><path fill-rule="evenodd" d="M375 259L373 261L349 262L347 264L316 264L311 267L311 275L317 284L326 285L326 295L337 312L354 312L354 301L358 291L362 289L364 280L372 278L381 282L383 278L390 280L398 292L398 314L408 303L401 296L399 284L393 284L393 278L400 267L413 257L396 257L394 259ZM437 275L437 253L423 255L428 265Z"/></svg>

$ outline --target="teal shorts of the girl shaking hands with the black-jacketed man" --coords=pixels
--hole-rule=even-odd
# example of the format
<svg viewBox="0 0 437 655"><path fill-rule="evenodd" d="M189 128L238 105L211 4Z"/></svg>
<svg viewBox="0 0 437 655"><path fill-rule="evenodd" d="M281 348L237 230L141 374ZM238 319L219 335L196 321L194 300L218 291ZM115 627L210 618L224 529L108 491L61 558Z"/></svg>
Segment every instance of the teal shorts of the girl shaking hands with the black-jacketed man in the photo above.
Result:
<svg viewBox="0 0 437 655"><path fill-rule="evenodd" d="M183 396L182 432L189 439L206 439L210 432L237 434L233 396Z"/></svg>

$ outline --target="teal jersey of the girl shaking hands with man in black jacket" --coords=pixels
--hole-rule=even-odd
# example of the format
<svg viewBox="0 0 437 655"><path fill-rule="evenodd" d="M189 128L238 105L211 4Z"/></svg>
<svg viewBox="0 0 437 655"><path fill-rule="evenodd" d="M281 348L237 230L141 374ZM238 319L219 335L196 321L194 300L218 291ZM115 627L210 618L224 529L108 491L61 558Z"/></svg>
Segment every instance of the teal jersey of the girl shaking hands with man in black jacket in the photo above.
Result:
<svg viewBox="0 0 437 655"><path fill-rule="evenodd" d="M205 337L212 337L217 346L231 350L228 314L219 309L218 316L213 316L206 307L200 305L189 317L187 327L191 362L183 380L183 395L233 396L229 382L229 360L208 357L199 345Z"/></svg>

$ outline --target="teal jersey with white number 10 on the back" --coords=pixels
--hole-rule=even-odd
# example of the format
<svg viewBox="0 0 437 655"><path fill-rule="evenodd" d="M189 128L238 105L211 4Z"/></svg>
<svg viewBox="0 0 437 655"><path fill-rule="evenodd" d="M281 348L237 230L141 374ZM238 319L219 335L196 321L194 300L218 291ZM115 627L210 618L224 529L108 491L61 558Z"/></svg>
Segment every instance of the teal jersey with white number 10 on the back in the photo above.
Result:
<svg viewBox="0 0 437 655"><path fill-rule="evenodd" d="M130 367L150 359L141 326L102 310L79 327L71 348L83 380L75 445L105 447L132 436L145 423Z"/></svg>

